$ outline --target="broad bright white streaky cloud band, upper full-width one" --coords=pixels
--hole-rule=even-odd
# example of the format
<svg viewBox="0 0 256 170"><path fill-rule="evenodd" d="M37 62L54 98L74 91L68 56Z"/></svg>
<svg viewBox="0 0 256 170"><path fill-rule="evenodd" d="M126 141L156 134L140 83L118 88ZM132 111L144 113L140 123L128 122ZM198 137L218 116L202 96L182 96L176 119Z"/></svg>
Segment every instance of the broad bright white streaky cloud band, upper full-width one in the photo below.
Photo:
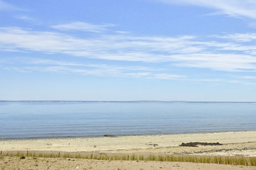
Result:
<svg viewBox="0 0 256 170"><path fill-rule="evenodd" d="M207 37L202 40L195 36L102 35L96 38L78 38L57 32L8 27L0 29L0 48L59 53L90 59L166 63L170 67L255 72L256 43L253 35L210 36L209 41L206 40ZM247 45L248 41L251 42L250 46Z"/></svg>

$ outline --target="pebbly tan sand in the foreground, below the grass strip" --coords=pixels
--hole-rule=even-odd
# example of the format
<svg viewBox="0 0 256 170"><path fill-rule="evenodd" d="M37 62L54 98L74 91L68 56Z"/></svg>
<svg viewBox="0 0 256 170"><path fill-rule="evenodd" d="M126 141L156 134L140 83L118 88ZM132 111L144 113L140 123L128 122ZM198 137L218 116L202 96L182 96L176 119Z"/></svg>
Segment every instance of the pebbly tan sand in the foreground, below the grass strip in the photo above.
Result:
<svg viewBox="0 0 256 170"><path fill-rule="evenodd" d="M189 170L253 170L255 167L197 164L187 162L136 162L98 161L75 158L25 158L0 157L0 169L96 169L96 170L150 170L150 169L189 169Z"/></svg>

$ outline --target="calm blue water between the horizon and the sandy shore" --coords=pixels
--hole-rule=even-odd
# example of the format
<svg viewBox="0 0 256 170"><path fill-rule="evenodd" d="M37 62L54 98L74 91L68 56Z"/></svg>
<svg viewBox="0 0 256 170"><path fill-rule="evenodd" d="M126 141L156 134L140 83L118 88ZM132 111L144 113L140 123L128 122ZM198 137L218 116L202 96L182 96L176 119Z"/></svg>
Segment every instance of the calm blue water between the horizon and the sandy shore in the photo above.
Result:
<svg viewBox="0 0 256 170"><path fill-rule="evenodd" d="M0 139L250 130L255 103L0 102Z"/></svg>

